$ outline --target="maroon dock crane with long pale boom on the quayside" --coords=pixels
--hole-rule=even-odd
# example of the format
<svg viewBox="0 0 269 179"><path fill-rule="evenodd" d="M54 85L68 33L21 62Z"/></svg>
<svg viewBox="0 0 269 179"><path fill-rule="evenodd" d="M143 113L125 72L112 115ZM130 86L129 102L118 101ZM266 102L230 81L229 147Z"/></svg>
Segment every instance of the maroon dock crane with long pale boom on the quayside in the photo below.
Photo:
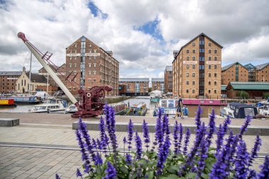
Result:
<svg viewBox="0 0 269 179"><path fill-rule="evenodd" d="M94 117L103 113L103 105L105 105L105 91L112 91L112 86L93 86L88 90L80 88L80 100L78 102L64 85L64 83L62 83L57 74L55 74L55 72L47 64L51 62L50 57L52 56L52 53L46 52L45 54L42 54L42 52L40 52L26 39L24 33L18 33L18 37L23 40L24 44L35 55L36 59L38 59L40 64L42 64L42 67L45 68L47 73L50 74L50 76L57 83L59 88L64 91L69 100L71 100L71 103L74 103L74 105L76 105L76 108L78 108L78 111L72 114L71 117Z"/></svg>

